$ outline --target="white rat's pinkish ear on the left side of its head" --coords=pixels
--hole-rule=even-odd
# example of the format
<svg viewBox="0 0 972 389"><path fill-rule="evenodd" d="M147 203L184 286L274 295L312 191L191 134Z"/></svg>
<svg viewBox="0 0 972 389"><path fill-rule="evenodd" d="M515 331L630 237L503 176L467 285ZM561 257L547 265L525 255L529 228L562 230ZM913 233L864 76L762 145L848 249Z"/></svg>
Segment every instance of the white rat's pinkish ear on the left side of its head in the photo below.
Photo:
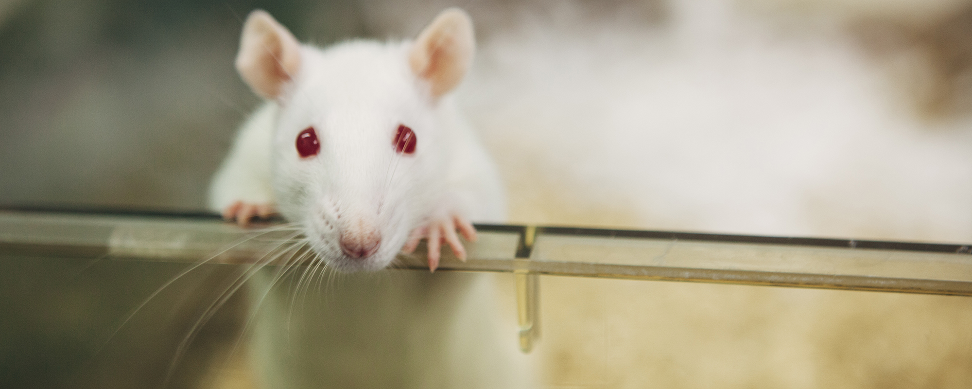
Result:
<svg viewBox="0 0 972 389"><path fill-rule="evenodd" d="M243 23L236 70L264 98L280 96L300 69L300 44L294 34L265 11L250 13Z"/></svg>

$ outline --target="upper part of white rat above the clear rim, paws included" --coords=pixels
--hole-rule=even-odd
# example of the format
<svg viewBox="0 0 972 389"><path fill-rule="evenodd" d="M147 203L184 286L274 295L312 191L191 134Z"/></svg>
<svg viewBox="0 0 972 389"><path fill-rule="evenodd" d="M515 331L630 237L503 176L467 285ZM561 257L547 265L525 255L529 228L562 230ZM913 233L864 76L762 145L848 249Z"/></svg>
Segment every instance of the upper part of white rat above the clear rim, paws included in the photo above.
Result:
<svg viewBox="0 0 972 389"><path fill-rule="evenodd" d="M456 229L471 240L468 220L505 217L496 168L447 94L469 68L472 34L452 9L414 43L322 51L252 13L236 68L269 101L240 130L210 207L241 224L279 209L337 269L384 268L423 237L433 269L440 239L465 258Z"/></svg>

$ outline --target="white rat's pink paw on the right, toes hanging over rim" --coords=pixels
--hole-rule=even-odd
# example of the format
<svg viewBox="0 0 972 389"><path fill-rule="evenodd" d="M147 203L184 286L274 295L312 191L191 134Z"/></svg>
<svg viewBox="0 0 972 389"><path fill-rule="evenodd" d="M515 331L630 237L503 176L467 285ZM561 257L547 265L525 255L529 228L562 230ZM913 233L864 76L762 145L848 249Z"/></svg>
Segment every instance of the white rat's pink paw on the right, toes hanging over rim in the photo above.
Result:
<svg viewBox="0 0 972 389"><path fill-rule="evenodd" d="M463 243L459 241L456 230L459 230L459 233L462 233L466 240L470 242L476 240L476 229L472 227L472 224L462 216L453 215L447 219L435 219L428 226L412 230L401 251L411 253L415 251L415 247L419 245L422 238L429 238L429 269L435 271L435 268L438 267L439 249L442 246L442 241L445 240L452 248L452 253L460 261L466 261L466 249L463 247Z"/></svg>

